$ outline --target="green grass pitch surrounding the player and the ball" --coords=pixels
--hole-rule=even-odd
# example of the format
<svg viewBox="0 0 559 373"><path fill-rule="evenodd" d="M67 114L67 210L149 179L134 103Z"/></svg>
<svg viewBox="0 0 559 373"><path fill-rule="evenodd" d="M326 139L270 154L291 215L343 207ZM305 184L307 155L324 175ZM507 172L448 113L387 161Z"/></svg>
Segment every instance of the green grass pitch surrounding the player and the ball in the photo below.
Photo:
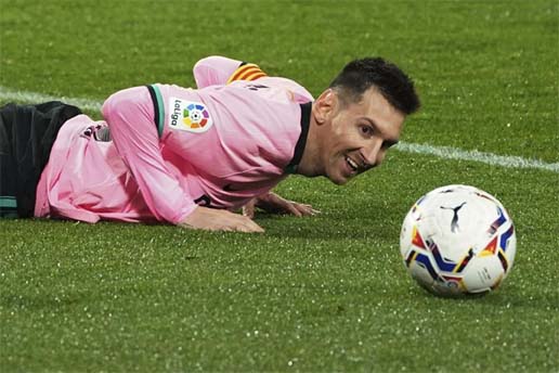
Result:
<svg viewBox="0 0 559 373"><path fill-rule="evenodd" d="M315 95L382 55L424 103L403 141L559 162L557 1L0 0L0 88L101 102L192 86L210 54ZM407 209L451 183L516 223L515 268L482 298L433 297L400 258ZM0 221L0 371L558 372L558 185L392 151L347 188L288 179L282 195L323 213L260 214L265 234Z"/></svg>

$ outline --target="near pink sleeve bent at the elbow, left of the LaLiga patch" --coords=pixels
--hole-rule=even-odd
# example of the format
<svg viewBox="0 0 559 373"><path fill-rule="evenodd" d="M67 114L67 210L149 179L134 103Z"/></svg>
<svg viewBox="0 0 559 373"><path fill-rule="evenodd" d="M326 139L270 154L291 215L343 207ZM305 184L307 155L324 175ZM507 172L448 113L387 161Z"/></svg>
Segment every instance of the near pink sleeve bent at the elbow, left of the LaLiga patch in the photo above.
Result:
<svg viewBox="0 0 559 373"><path fill-rule="evenodd" d="M165 165L147 88L113 94L103 104L102 113L150 210L159 221L183 221L197 205Z"/></svg>

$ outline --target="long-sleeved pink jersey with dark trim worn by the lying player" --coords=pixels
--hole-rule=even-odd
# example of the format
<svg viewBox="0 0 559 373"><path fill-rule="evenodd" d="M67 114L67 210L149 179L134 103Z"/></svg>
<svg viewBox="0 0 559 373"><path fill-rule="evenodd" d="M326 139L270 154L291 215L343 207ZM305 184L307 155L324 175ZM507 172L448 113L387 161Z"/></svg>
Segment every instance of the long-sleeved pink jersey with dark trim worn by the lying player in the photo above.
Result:
<svg viewBox="0 0 559 373"><path fill-rule="evenodd" d="M68 120L35 215L178 223L197 205L233 209L271 190L300 160L312 97L239 64L204 59L194 67L197 90L131 88L104 103L106 121Z"/></svg>

